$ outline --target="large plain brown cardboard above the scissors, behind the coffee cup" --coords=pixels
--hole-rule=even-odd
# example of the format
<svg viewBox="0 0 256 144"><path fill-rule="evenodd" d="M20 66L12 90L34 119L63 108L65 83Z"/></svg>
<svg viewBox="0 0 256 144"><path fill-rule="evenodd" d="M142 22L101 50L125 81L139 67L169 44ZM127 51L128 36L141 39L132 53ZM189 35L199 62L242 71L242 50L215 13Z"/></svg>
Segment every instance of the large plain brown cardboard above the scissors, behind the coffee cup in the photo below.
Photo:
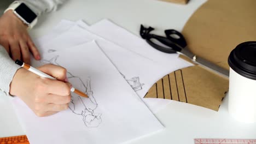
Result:
<svg viewBox="0 0 256 144"><path fill-rule="evenodd" d="M256 1L209 0L190 17L182 34L190 51L229 69L231 50L256 39Z"/></svg>

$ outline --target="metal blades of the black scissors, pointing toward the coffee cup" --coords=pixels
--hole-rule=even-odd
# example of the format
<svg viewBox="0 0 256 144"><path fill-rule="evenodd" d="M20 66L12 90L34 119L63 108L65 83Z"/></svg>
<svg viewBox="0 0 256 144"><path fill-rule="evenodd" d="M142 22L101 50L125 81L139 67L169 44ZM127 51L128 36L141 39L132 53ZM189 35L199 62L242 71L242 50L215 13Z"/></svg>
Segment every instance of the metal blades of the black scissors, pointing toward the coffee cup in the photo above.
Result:
<svg viewBox="0 0 256 144"><path fill-rule="evenodd" d="M203 67L212 70L215 73L218 73L219 75L222 75L226 78L229 78L229 70L226 70L224 68L219 67L218 65L207 61L206 59L203 59L201 57L197 57L194 55L194 53L190 52L188 50L188 47L185 47L184 49L182 49L181 52L178 52L184 56L189 57L193 62L202 65Z"/></svg>

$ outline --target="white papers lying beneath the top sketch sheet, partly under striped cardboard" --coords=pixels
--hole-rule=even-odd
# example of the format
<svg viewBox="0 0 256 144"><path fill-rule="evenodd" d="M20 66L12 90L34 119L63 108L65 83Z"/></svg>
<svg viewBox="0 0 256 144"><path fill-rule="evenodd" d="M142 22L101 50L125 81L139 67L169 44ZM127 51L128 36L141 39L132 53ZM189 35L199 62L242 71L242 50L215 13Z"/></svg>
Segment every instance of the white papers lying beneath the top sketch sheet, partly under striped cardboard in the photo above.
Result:
<svg viewBox="0 0 256 144"><path fill-rule="evenodd" d="M50 43L53 38L58 39L58 42ZM92 26L88 26L83 20L77 22L62 20L53 31L37 41L37 46L42 51L48 51L91 40L96 40L106 56L141 98L147 94L156 81L166 74L191 66L190 63L179 59L177 54L163 53L153 49L142 38L107 19ZM171 102L167 99L150 98L143 99L143 101L153 112L159 111Z"/></svg>

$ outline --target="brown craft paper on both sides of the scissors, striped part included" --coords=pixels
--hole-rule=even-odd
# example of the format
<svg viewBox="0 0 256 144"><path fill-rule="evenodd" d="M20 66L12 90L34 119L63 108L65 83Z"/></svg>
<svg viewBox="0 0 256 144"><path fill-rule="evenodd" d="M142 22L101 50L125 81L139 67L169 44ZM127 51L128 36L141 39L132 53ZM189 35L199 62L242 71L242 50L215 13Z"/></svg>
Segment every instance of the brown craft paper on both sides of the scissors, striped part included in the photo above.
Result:
<svg viewBox="0 0 256 144"><path fill-rule="evenodd" d="M229 69L231 50L244 41L256 40L255 5L255 0L207 1L183 28L189 50ZM173 99L218 111L228 85L228 79L195 65L163 77L145 98Z"/></svg>

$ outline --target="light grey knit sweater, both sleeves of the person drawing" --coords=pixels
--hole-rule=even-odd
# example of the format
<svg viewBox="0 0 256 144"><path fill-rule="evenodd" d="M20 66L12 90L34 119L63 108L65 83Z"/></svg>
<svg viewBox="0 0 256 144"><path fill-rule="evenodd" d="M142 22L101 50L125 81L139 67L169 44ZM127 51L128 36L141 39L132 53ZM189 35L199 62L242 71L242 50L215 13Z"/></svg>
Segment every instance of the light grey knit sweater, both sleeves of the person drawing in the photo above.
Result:
<svg viewBox="0 0 256 144"><path fill-rule="evenodd" d="M64 1L66 0L21 0L21 2L24 2L38 16L56 10L58 5ZM13 80L13 76L19 68L20 66L14 63L9 57L8 52L0 45L0 90L7 95L9 95L10 83Z"/></svg>

